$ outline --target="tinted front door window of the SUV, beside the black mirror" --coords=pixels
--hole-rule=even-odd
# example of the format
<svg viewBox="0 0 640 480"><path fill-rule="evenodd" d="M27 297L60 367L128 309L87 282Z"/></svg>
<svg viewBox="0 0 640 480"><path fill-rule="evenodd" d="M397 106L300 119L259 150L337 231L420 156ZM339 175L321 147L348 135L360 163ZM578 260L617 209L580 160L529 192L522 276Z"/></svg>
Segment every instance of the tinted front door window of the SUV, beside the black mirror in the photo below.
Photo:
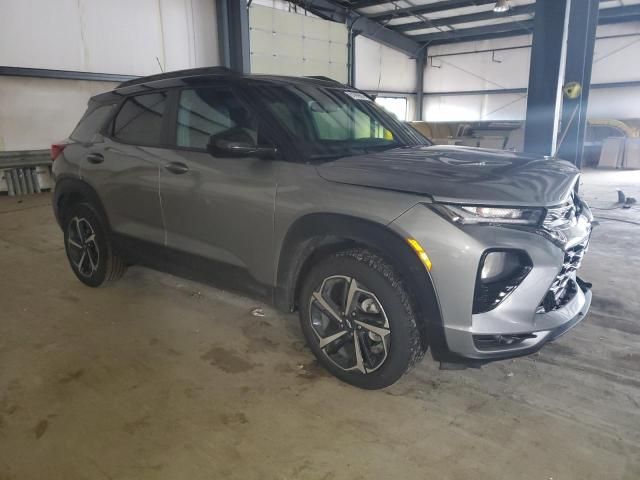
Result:
<svg viewBox="0 0 640 480"><path fill-rule="evenodd" d="M258 121L226 88L183 90L178 104L179 147L206 149L216 139L256 145Z"/></svg>

